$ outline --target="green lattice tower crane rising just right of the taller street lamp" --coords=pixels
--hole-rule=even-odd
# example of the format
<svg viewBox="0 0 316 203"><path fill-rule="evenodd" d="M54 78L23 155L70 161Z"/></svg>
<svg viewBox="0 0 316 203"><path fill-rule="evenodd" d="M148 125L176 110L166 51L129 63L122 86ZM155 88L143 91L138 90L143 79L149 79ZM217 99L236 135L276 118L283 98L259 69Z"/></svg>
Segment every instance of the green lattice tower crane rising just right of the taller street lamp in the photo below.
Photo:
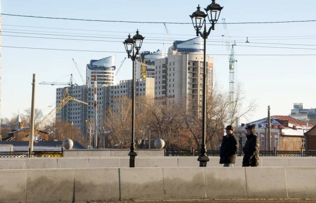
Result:
<svg viewBox="0 0 316 203"><path fill-rule="evenodd" d="M234 116L235 116L235 56L234 56L234 46L236 46L236 43L230 44L230 40L232 40L231 35L229 34L226 26L226 20L225 18L222 18L223 21L223 27L226 34L226 49L229 54L229 121L230 124L233 124L234 122Z"/></svg>

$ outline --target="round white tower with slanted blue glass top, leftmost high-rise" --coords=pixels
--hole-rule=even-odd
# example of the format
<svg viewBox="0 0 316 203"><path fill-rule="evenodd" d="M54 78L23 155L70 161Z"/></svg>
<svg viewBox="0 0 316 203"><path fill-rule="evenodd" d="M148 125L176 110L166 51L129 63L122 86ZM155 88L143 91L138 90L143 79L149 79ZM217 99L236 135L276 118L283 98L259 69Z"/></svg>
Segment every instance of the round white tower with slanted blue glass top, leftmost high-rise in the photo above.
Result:
<svg viewBox="0 0 316 203"><path fill-rule="evenodd" d="M115 55L100 60L91 60L86 66L86 81L88 84L93 84L94 75L97 75L98 85L113 85L115 69Z"/></svg>

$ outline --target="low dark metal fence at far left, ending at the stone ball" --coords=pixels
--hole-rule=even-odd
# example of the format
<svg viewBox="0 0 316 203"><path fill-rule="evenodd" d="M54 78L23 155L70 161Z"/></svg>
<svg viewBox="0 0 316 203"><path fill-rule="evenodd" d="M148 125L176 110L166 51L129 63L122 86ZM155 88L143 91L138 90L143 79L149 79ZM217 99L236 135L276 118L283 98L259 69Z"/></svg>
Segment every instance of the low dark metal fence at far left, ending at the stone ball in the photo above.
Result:
<svg viewBox="0 0 316 203"><path fill-rule="evenodd" d="M2 151L1 158L25 158L25 157L63 157L63 150L61 151Z"/></svg>

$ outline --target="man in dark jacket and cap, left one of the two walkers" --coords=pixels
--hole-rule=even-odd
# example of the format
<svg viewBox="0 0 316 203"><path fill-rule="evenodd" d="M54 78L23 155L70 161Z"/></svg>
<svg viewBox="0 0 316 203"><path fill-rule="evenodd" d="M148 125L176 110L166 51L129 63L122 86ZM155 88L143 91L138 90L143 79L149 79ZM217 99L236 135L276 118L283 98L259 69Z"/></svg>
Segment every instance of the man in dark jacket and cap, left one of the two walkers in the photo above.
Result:
<svg viewBox="0 0 316 203"><path fill-rule="evenodd" d="M234 167L239 145L238 139L234 133L234 126L228 125L225 130L226 136L223 137L219 149L219 163L224 164L224 167Z"/></svg>

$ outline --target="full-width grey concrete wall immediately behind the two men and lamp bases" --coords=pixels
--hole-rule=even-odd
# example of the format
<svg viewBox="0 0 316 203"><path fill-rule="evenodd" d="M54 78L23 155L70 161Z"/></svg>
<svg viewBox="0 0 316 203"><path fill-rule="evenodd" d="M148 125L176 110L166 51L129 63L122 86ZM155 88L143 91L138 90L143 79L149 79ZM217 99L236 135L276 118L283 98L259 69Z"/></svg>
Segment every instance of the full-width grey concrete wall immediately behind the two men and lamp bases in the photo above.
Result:
<svg viewBox="0 0 316 203"><path fill-rule="evenodd" d="M259 167L316 167L316 157L262 157ZM197 156L137 156L136 167L198 167ZM222 167L218 157L210 157L207 167ZM235 167L242 166L242 158ZM58 169L58 168L125 168L129 157L125 156L72 156L0 159L0 170L10 169Z"/></svg>

